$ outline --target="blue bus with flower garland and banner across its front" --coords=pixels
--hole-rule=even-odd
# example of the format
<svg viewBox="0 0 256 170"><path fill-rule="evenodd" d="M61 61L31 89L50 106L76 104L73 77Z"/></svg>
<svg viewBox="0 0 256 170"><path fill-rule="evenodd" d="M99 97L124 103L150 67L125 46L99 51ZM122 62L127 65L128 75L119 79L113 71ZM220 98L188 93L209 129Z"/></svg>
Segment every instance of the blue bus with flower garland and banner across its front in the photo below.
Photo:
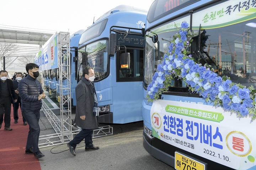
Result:
<svg viewBox="0 0 256 170"><path fill-rule="evenodd" d="M191 36L187 36L186 23ZM182 34L188 39L178 38L184 37ZM145 23L143 77L143 146L148 153L177 170L256 168L255 38L255 0L153 2ZM187 56L174 59L181 41L191 46L185 48ZM174 48L177 51L173 53ZM181 52L184 54L184 49ZM199 70L194 69L196 65ZM207 77L197 81L201 69L216 79L212 83L204 81ZM152 102L150 96L163 87L164 78L172 74L169 70L173 71L172 83ZM225 85L236 91L225 89ZM206 100L207 90L215 94L210 100ZM246 91L247 99L237 90Z"/></svg>

